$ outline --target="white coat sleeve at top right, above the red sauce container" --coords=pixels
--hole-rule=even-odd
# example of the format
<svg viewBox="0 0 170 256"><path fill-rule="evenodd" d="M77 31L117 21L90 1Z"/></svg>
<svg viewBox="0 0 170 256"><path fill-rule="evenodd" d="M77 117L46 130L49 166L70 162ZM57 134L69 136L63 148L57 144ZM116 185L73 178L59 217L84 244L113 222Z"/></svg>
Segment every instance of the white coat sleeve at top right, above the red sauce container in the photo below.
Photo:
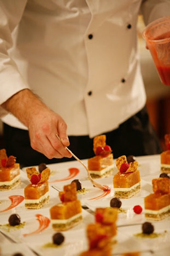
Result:
<svg viewBox="0 0 170 256"><path fill-rule="evenodd" d="M143 0L141 13L147 25L153 20L170 15L170 0Z"/></svg>

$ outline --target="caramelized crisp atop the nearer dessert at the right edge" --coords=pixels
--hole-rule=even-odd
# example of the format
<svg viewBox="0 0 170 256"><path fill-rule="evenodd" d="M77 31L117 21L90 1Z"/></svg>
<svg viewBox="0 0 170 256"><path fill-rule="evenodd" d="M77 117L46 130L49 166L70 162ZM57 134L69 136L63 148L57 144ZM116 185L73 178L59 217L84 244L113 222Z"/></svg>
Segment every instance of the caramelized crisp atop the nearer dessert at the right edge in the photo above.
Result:
<svg viewBox="0 0 170 256"><path fill-rule="evenodd" d="M170 193L170 179L169 178L155 178L152 180L153 192L160 194Z"/></svg>

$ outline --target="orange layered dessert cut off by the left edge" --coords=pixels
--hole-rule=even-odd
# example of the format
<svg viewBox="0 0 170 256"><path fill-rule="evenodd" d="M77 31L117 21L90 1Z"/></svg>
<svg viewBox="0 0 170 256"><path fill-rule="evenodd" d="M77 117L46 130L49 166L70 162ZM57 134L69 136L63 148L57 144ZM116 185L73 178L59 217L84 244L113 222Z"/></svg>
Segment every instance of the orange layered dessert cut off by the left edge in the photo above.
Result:
<svg viewBox="0 0 170 256"><path fill-rule="evenodd" d="M20 184L20 164L16 157L6 155L6 150L0 150L0 190L11 190Z"/></svg>

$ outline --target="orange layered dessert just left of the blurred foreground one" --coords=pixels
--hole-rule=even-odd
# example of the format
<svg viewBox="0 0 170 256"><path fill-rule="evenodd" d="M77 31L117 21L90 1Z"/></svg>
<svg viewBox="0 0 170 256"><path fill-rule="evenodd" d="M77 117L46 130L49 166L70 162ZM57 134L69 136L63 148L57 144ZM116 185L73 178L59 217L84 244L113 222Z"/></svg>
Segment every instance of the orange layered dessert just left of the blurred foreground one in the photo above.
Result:
<svg viewBox="0 0 170 256"><path fill-rule="evenodd" d="M54 230L68 230L82 221L82 207L77 199L75 182L65 185L59 192L61 203L50 208L51 223Z"/></svg>

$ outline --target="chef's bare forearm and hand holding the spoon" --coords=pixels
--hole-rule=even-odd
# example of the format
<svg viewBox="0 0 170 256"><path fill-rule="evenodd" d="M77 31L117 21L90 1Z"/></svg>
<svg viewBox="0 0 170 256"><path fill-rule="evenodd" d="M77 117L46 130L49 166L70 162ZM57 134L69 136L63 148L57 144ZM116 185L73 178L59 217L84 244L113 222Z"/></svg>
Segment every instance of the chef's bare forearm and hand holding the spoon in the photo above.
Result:
<svg viewBox="0 0 170 256"><path fill-rule="evenodd" d="M31 147L47 158L71 158L64 146L69 146L67 125L62 117L34 95L29 89L17 92L1 105L28 127ZM59 135L59 139L56 137Z"/></svg>

